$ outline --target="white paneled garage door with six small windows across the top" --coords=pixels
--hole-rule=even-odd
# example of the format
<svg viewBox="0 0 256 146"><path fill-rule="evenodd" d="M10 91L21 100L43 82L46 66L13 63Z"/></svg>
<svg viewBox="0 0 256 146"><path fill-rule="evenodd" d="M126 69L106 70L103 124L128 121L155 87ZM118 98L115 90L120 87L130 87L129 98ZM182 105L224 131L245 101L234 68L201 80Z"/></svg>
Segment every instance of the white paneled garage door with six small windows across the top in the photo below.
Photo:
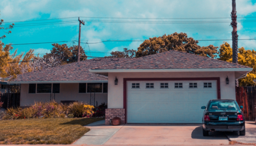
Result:
<svg viewBox="0 0 256 146"><path fill-rule="evenodd" d="M128 81L127 123L202 123L216 81Z"/></svg>

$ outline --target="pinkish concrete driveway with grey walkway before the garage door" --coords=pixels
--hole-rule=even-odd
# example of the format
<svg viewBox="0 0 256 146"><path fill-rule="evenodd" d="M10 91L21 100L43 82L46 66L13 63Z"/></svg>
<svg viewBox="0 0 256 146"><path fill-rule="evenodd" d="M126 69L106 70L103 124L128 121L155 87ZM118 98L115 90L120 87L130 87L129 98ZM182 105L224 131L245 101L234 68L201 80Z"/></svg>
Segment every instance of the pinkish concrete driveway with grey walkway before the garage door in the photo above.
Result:
<svg viewBox="0 0 256 146"><path fill-rule="evenodd" d="M126 124L105 126L87 125L85 133L76 145L228 145L224 132L210 132L203 136L201 124Z"/></svg>

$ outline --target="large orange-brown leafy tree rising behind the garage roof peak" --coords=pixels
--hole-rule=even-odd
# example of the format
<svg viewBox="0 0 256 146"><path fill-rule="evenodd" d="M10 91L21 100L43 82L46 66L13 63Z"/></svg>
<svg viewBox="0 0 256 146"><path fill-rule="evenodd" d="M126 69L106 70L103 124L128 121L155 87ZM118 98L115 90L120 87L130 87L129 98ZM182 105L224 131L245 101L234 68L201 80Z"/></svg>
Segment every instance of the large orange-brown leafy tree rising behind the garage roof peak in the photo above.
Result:
<svg viewBox="0 0 256 146"><path fill-rule="evenodd" d="M177 50L186 53L196 54L205 57L214 58L217 55L217 48L213 45L200 47L198 41L193 38L188 38L185 33L173 33L171 35L163 35L162 37L153 37L145 40L138 51L136 57L152 55L160 52Z"/></svg>

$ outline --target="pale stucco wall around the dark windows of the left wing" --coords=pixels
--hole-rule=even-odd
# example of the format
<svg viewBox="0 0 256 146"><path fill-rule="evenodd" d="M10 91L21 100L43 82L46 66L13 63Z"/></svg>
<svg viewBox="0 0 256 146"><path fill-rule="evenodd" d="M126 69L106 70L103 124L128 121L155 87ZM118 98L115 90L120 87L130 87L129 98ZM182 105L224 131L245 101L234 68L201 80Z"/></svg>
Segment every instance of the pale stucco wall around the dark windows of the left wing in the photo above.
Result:
<svg viewBox="0 0 256 146"><path fill-rule="evenodd" d="M47 102L50 100L50 93L28 93L29 84L21 84L20 106L30 106L34 102ZM55 93L55 101L81 101L90 103L90 93L78 93L78 83L60 84L60 93ZM108 103L108 93L95 93L95 105L105 102Z"/></svg>

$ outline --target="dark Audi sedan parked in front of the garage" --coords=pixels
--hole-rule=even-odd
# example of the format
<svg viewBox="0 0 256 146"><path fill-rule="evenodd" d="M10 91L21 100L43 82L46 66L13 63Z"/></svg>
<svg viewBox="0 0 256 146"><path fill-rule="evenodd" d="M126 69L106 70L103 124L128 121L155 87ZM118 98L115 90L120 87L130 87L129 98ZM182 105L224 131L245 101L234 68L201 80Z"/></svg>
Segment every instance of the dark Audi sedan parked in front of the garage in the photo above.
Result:
<svg viewBox="0 0 256 146"><path fill-rule="evenodd" d="M242 112L243 106L238 106L234 99L213 99L203 112L203 136L208 136L209 131L239 131L245 135L245 119Z"/></svg>

